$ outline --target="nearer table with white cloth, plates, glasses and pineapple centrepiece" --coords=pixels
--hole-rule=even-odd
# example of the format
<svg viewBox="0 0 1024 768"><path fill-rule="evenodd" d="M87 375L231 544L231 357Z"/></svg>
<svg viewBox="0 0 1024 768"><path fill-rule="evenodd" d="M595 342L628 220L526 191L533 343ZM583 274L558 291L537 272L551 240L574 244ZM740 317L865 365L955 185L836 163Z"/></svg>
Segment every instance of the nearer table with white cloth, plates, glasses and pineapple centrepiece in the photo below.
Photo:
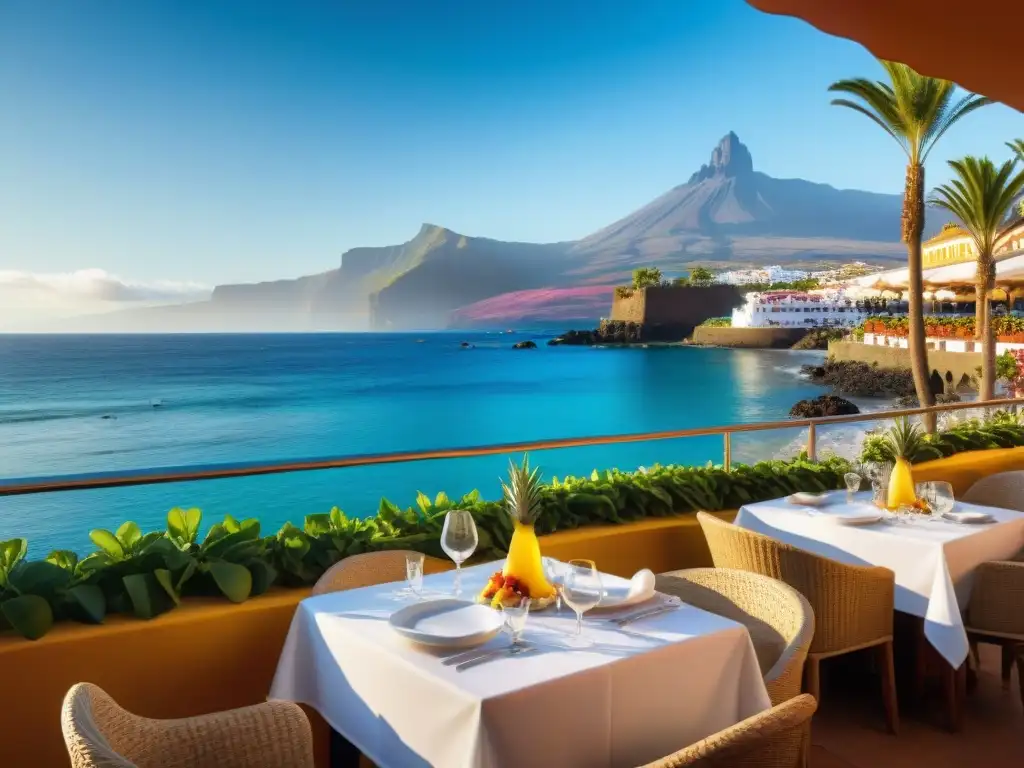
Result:
<svg viewBox="0 0 1024 768"><path fill-rule="evenodd" d="M424 577L410 553L404 585L303 600L269 697L384 768L636 766L770 707L742 625L657 593L649 570L543 558L537 485L513 464L504 561L465 564L463 517L441 536L455 572Z"/></svg>

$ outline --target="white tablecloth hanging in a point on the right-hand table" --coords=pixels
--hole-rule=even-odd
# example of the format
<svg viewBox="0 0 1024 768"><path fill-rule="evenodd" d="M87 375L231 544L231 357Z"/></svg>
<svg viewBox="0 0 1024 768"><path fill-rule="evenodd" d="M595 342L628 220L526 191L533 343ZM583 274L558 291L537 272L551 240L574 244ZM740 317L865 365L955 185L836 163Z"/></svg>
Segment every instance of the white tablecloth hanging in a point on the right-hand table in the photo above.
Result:
<svg viewBox="0 0 1024 768"><path fill-rule="evenodd" d="M826 519L829 512L869 509L868 496L858 494L847 505L846 492L839 492L836 502L813 512L784 499L750 504L735 523L834 560L889 568L896 574L896 609L922 616L929 642L959 667L969 651L961 609L971 596L972 573L1024 547L1024 514L957 502L957 512L988 512L997 522L843 525Z"/></svg>

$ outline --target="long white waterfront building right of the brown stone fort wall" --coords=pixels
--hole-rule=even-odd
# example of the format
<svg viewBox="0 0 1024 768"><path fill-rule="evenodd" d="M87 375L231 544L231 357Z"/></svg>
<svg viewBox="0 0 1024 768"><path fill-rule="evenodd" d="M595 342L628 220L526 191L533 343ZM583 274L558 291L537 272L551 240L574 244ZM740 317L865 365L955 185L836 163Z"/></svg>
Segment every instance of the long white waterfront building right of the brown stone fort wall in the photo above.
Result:
<svg viewBox="0 0 1024 768"><path fill-rule="evenodd" d="M746 294L746 303L732 310L732 327L853 328L868 314L841 291L769 291Z"/></svg>

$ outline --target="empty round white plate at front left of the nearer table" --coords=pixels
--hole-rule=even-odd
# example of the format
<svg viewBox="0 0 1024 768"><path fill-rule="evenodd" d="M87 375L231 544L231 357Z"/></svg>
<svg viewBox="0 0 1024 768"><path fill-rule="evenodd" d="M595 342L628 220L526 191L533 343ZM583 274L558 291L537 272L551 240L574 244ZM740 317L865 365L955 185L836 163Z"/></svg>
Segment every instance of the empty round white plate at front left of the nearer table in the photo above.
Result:
<svg viewBox="0 0 1024 768"><path fill-rule="evenodd" d="M502 630L505 617L485 605L441 598L407 605L388 618L402 637L440 648L481 645Z"/></svg>

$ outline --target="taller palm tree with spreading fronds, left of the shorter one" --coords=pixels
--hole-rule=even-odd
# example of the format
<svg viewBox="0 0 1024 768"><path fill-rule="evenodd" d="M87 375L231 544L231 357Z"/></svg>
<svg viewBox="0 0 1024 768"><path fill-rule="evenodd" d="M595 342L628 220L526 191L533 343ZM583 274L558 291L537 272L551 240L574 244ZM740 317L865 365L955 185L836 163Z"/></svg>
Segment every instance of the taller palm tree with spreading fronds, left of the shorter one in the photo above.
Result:
<svg viewBox="0 0 1024 768"><path fill-rule="evenodd" d="M921 269L921 236L925 228L925 161L953 123L989 103L989 99L970 92L958 95L956 86L948 80L925 77L895 61L880 61L889 76L889 82L865 78L840 80L828 86L828 90L852 96L852 99L834 99L833 103L859 112L873 121L896 139L906 154L901 236L906 244L909 271L910 368L919 401L922 406L931 406L935 398L928 381ZM926 418L925 426L934 431L934 416Z"/></svg>

